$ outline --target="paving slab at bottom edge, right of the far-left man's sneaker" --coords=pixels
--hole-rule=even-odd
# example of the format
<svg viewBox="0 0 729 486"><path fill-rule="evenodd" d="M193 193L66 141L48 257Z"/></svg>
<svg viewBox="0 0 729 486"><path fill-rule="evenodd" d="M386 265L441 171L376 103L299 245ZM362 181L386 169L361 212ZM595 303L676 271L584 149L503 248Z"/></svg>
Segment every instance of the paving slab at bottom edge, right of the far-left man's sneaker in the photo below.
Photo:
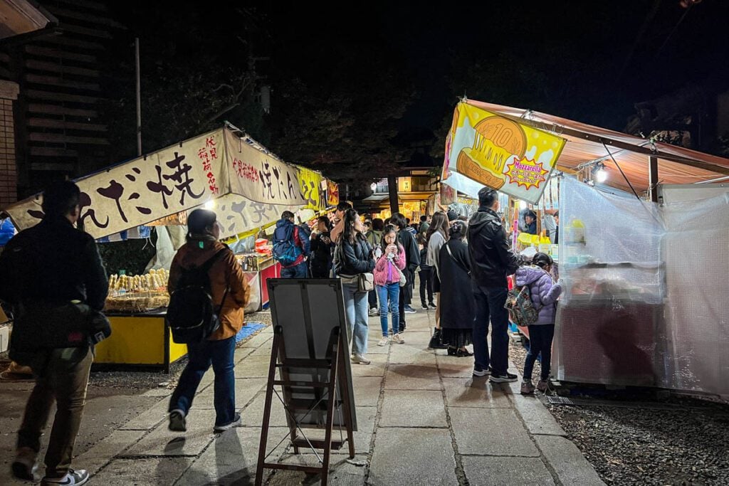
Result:
<svg viewBox="0 0 729 486"><path fill-rule="evenodd" d="M193 458L114 459L88 485L172 485L182 475Z"/></svg>

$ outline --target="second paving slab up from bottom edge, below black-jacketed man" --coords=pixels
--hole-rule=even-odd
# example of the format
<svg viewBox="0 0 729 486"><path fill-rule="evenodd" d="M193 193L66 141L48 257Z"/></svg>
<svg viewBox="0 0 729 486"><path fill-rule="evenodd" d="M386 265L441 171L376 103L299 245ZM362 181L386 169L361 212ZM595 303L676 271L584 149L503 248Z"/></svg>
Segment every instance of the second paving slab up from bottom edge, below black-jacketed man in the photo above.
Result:
<svg viewBox="0 0 729 486"><path fill-rule="evenodd" d="M449 408L459 452L466 455L539 457L512 409Z"/></svg>

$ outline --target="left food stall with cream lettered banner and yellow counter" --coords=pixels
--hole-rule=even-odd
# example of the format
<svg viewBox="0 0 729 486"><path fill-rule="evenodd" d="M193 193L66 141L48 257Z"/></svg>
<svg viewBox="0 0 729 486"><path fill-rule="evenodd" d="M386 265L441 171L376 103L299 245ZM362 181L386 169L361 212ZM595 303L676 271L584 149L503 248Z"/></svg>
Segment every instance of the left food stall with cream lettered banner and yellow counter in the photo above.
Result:
<svg viewBox="0 0 729 486"><path fill-rule="evenodd" d="M162 230L165 224L181 224L169 219L208 208L217 214L221 236L240 241L270 227L284 211L319 211L335 205L338 197L335 184L320 173L278 160L230 124L76 182L82 191L79 227L97 240L163 222L157 226L157 258L151 267L143 275L112 275L106 309L112 335L97 346L95 364L114 367L168 369L187 353L173 342L165 324L165 272L184 243ZM22 230L42 219L41 200L42 195L35 195L3 211ZM265 281L280 275L278 264L270 254L253 258L246 253L254 248L237 248L258 302L265 305Z"/></svg>

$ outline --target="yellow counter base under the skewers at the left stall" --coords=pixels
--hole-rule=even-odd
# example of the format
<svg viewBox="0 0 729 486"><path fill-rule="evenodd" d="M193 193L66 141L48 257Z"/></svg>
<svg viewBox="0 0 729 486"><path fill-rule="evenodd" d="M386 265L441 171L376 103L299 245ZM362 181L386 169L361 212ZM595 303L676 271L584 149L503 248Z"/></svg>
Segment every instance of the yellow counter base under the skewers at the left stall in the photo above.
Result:
<svg viewBox="0 0 729 486"><path fill-rule="evenodd" d="M112 335L96 345L95 364L121 366L169 366L187 354L187 345L172 340L165 313L107 315Z"/></svg>

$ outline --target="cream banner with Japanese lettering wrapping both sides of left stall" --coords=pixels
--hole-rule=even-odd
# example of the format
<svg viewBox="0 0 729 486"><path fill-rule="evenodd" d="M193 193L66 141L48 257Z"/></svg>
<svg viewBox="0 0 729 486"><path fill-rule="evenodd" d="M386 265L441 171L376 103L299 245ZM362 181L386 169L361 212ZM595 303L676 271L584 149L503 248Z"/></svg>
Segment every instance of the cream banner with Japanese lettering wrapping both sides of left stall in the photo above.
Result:
<svg viewBox="0 0 729 486"><path fill-rule="evenodd" d="M238 232L275 221L281 208L294 212L323 209L330 197L322 189L327 181L320 173L281 162L229 128L190 138L76 182L82 191L79 223L96 239L151 222L184 224L175 215L226 195L238 196L228 206L240 210L235 224ZM332 186L336 188L336 184ZM23 230L43 218L41 203L42 195L38 194L4 211ZM276 216L273 220L272 215Z"/></svg>

